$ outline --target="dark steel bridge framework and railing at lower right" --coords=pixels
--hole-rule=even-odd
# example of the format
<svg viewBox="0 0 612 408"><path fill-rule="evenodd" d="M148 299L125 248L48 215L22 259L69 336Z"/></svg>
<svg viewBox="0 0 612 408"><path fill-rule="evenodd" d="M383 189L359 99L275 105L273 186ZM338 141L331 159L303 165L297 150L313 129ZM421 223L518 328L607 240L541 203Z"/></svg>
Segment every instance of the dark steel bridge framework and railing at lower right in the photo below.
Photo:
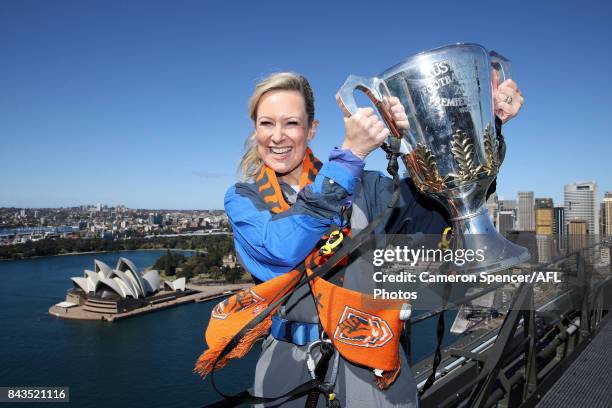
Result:
<svg viewBox="0 0 612 408"><path fill-rule="evenodd" d="M571 236L546 245L540 244L531 264L502 273L554 273L553 283L486 285L410 320L414 326L438 317L440 333L445 312L459 308L461 318L462 305L465 310L491 292L512 293L509 305L499 311L496 328L476 324L469 335L442 347L436 380L422 395L423 407L533 405L610 319L612 239ZM542 254L548 259L538 262ZM432 360L413 366L421 390L432 375Z"/></svg>

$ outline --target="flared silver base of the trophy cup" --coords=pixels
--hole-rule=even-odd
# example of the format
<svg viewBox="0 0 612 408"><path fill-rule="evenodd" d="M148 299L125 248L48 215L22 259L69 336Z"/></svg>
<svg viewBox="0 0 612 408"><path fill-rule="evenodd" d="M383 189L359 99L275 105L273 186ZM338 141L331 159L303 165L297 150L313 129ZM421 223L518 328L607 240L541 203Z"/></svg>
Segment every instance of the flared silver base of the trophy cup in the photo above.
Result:
<svg viewBox="0 0 612 408"><path fill-rule="evenodd" d="M493 273L511 268L531 258L527 248L504 238L493 225L485 206L473 216L453 220L453 249L479 251L482 261L457 266L462 274Z"/></svg>

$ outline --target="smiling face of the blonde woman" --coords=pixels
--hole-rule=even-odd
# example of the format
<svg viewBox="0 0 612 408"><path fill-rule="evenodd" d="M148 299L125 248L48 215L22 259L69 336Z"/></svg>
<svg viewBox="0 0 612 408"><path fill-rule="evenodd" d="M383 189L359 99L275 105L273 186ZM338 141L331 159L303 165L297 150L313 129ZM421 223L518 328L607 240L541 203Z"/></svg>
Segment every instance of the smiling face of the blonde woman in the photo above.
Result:
<svg viewBox="0 0 612 408"><path fill-rule="evenodd" d="M264 163L289 184L299 184L308 141L316 121L308 124L302 94L298 91L266 92L257 106L255 140Z"/></svg>

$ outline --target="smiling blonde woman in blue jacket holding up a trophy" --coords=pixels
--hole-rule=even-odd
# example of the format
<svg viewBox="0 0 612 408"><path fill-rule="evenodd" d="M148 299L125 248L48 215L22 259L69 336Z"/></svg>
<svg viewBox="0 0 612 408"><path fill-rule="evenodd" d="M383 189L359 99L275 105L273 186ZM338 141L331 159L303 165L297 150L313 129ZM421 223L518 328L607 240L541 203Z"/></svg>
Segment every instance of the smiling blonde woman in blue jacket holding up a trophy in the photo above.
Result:
<svg viewBox="0 0 612 408"><path fill-rule="evenodd" d="M495 100L500 102L496 112L503 120L516 115L522 104L512 81L499 87ZM399 100L391 98L387 106L398 126L407 128ZM364 229L383 212L393 185L380 173L363 170L364 159L389 134L372 109L360 109L345 118L342 147L334 148L325 164L308 148L318 122L313 93L304 77L277 73L264 79L255 88L249 111L255 131L240 165L253 182L232 186L225 196L225 209L239 260L259 283L302 262L332 225L350 224L353 235ZM401 188L397 208L378 233L439 234L448 225L446 211L438 203L418 194L408 180ZM351 259L330 279L344 288L371 294L374 282L371 274L364 273L371 269L369 260ZM256 368L255 395L282 395L311 379L307 351L320 335L318 322L315 301L308 286L302 286L274 317L272 334L263 343ZM373 385L370 369L340 357L335 370L329 370L336 373L336 400L343 407L416 406L416 385L400 354L404 369L385 390ZM330 376L328 373L327 378ZM303 407L305 400L303 396L280 403ZM321 398L319 406L323 405Z"/></svg>

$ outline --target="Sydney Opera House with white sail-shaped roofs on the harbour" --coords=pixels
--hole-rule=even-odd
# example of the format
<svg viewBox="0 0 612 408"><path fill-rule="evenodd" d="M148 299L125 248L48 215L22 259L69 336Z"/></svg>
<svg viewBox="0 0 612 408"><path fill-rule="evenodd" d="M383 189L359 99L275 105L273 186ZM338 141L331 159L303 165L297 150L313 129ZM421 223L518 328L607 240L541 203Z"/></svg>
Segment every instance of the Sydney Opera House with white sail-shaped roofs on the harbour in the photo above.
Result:
<svg viewBox="0 0 612 408"><path fill-rule="evenodd" d="M71 279L74 287L56 306L86 315L129 312L191 292L185 289L185 278L162 282L158 271L141 274L126 258L119 258L115 268L95 259L94 270L86 269L83 276Z"/></svg>

